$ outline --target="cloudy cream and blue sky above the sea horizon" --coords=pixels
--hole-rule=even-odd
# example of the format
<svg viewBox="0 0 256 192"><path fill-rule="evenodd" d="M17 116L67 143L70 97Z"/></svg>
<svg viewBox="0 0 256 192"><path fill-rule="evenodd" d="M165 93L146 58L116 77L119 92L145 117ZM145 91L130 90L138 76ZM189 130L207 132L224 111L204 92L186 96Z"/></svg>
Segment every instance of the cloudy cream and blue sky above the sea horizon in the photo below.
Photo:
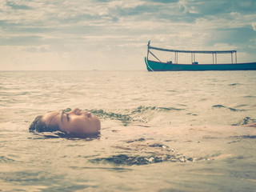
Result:
<svg viewBox="0 0 256 192"><path fill-rule="evenodd" d="M256 62L256 1L0 0L0 70L146 70L149 40Z"/></svg>

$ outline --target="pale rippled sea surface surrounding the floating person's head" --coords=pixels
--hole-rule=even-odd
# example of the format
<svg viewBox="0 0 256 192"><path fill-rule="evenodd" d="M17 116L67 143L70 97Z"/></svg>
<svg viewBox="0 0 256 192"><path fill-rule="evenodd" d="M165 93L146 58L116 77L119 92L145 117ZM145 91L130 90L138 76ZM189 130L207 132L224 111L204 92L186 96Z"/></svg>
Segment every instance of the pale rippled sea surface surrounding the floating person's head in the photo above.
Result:
<svg viewBox="0 0 256 192"><path fill-rule="evenodd" d="M95 138L32 134L98 115ZM0 191L255 191L256 71L0 71Z"/></svg>

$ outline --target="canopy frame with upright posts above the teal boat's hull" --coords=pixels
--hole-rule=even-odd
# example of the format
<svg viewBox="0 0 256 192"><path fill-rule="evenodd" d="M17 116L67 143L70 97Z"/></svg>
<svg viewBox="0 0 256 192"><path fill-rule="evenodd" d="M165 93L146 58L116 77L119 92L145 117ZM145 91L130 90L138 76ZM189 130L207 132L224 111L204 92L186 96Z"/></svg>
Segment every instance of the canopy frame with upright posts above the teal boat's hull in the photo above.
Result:
<svg viewBox="0 0 256 192"><path fill-rule="evenodd" d="M233 64L234 62L237 63L237 50L170 50L170 49L163 49L163 48L158 48L155 46L150 46L150 41L147 44L147 58L149 57L149 54L153 55L154 58L156 58L159 62L160 59L157 58L152 51L150 50L161 50L161 51L167 51L167 52L174 52L174 63L178 64L178 53L186 53L186 54L191 54L191 63L196 64L195 60L195 54L212 54L213 55L213 64L217 64L217 54L230 54L231 55L231 63ZM198 63L197 63L198 64Z"/></svg>

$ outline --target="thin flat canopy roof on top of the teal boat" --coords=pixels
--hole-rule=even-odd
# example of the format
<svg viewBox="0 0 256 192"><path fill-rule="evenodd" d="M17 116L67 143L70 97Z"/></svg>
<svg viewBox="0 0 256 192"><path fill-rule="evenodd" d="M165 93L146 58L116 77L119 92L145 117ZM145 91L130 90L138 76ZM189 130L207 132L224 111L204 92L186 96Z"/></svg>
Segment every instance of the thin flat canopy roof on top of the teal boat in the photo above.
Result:
<svg viewBox="0 0 256 192"><path fill-rule="evenodd" d="M162 49L155 46L150 46L148 44L149 50L162 50L162 51L169 51L169 52L176 52L176 53L190 53L190 54L233 54L236 53L236 50L169 50L169 49Z"/></svg>

